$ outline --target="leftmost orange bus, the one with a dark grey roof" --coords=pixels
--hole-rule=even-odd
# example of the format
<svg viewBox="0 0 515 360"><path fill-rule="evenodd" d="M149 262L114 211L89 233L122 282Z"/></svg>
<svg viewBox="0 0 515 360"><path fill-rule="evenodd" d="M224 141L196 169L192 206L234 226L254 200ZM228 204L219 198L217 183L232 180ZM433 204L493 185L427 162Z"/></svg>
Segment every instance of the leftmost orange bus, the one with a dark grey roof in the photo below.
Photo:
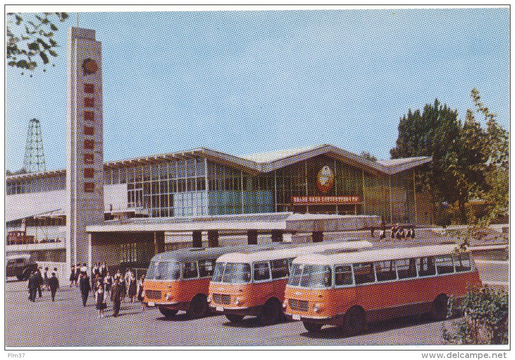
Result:
<svg viewBox="0 0 515 360"><path fill-rule="evenodd" d="M215 261L234 251L260 251L291 247L289 243L188 248L167 251L152 257L143 283L146 306L157 307L170 318L183 310L190 318L207 315L209 282Z"/></svg>

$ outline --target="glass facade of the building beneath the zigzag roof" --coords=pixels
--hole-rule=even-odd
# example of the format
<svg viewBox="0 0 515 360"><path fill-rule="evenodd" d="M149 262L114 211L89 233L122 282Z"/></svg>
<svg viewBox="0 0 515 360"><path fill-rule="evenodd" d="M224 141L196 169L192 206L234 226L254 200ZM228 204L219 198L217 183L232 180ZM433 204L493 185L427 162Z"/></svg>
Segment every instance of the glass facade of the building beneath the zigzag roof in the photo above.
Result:
<svg viewBox="0 0 515 360"><path fill-rule="evenodd" d="M318 183L322 168L332 173L327 188ZM128 208L145 210L152 218L293 211L379 215L386 223L410 223L416 212L413 175L413 169L391 176L372 173L327 155L255 174L192 155L106 166L104 184L127 184ZM8 195L64 188L64 174L7 181ZM345 196L357 200L292 203L292 197Z"/></svg>

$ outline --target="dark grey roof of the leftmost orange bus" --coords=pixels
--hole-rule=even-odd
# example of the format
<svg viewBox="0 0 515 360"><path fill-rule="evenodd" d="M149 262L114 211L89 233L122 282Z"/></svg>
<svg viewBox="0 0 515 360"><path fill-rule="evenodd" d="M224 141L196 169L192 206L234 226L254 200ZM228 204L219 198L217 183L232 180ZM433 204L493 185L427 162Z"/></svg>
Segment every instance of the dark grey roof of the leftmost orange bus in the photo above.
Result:
<svg viewBox="0 0 515 360"><path fill-rule="evenodd" d="M217 258L220 255L234 251L256 252L264 250L275 250L291 247L291 243L273 242L259 245L235 245L218 248L186 248L174 251L166 251L152 257L150 261L170 261L183 263L185 261L205 260Z"/></svg>

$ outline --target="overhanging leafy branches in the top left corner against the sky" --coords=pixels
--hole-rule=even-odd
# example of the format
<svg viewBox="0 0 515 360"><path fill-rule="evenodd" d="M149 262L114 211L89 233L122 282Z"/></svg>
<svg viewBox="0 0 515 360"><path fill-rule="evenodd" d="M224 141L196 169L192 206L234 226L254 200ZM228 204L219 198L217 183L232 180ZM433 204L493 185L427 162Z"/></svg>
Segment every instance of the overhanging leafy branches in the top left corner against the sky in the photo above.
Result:
<svg viewBox="0 0 515 360"><path fill-rule="evenodd" d="M50 57L57 57L54 39L56 23L68 18L66 12L36 14L7 13L6 57L10 67L33 71L38 63L46 66ZM54 65L53 65L54 66ZM43 68L46 71L46 68ZM22 72L23 74L23 72Z"/></svg>

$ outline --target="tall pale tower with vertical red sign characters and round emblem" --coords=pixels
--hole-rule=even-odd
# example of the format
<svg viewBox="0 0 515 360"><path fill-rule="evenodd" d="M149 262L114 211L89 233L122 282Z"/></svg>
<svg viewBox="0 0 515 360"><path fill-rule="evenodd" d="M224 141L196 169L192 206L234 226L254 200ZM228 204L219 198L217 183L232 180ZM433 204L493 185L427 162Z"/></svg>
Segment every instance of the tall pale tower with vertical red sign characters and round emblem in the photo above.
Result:
<svg viewBox="0 0 515 360"><path fill-rule="evenodd" d="M95 30L68 31L66 262L91 263L87 225L104 221L102 51Z"/></svg>

